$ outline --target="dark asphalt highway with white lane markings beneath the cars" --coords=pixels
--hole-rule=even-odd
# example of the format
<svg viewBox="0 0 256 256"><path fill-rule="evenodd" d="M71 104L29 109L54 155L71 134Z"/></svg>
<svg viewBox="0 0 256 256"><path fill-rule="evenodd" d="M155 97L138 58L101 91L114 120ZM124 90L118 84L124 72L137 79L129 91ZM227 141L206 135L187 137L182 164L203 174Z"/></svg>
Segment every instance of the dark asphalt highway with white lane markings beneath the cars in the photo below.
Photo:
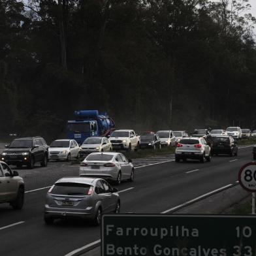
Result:
<svg viewBox="0 0 256 256"><path fill-rule="evenodd" d="M238 170L252 160L251 147L238 156L212 157L210 163L175 163L173 156L135 160L135 182L118 186L121 212L168 213L182 204L219 189L237 185ZM163 163L162 163L163 162ZM16 169L25 180L23 210L0 204L1 255L66 255L100 238L100 228L81 221L43 221L44 198L63 176L77 176L79 165L51 162L46 168Z"/></svg>

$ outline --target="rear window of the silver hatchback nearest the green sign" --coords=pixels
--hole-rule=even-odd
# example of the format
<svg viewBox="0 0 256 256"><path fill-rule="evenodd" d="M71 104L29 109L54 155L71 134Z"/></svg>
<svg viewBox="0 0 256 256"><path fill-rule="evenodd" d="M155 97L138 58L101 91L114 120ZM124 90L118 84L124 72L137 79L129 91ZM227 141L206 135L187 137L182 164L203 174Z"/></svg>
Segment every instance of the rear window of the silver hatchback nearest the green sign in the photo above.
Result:
<svg viewBox="0 0 256 256"><path fill-rule="evenodd" d="M88 195L88 191L91 185L63 182L54 185L51 194L55 195Z"/></svg>

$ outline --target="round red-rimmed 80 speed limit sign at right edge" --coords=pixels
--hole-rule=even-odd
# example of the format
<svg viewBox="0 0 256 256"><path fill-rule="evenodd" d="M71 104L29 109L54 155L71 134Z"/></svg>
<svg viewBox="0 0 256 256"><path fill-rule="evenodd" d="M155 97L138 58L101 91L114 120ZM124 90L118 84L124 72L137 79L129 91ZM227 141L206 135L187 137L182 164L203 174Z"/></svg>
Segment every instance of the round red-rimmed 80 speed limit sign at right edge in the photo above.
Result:
<svg viewBox="0 0 256 256"><path fill-rule="evenodd" d="M240 185L249 192L256 192L256 163L247 163L238 174Z"/></svg>

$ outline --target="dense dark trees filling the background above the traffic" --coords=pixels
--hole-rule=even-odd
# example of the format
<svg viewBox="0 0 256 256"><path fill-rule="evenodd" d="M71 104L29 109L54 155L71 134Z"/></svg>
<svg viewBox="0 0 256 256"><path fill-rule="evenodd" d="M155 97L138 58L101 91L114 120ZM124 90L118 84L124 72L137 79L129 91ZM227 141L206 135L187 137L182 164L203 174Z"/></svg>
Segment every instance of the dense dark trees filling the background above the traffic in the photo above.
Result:
<svg viewBox="0 0 256 256"><path fill-rule="evenodd" d="M254 128L248 12L248 0L0 0L0 131L54 137L77 109L138 130Z"/></svg>

